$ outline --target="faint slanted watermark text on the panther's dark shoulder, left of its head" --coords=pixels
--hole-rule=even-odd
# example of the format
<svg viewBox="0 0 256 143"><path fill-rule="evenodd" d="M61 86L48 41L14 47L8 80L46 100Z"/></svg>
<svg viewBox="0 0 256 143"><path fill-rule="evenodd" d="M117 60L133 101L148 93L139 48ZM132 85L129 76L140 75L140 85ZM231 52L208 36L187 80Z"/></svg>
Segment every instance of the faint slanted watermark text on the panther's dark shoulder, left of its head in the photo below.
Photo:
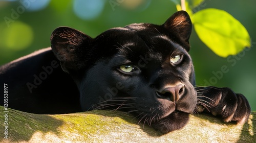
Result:
<svg viewBox="0 0 256 143"><path fill-rule="evenodd" d="M59 63L55 60L51 62L51 65L42 66L41 68L43 70L41 71L41 73L39 73L38 75L35 75L35 74L33 75L34 77L33 83L27 82L26 84L30 93L32 93L33 88L37 88L42 83L42 81L46 80L47 77L53 73L53 69L57 68L58 66L59 66Z"/></svg>

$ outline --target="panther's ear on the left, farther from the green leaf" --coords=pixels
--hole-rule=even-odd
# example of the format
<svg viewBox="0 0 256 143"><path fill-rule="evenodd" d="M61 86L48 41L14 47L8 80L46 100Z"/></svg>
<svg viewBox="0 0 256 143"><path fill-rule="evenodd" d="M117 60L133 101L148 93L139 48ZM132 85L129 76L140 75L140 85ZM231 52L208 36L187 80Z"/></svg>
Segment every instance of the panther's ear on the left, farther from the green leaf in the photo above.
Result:
<svg viewBox="0 0 256 143"><path fill-rule="evenodd" d="M58 27L52 32L51 47L66 73L80 68L80 57L87 53L92 38L82 32L69 28Z"/></svg>

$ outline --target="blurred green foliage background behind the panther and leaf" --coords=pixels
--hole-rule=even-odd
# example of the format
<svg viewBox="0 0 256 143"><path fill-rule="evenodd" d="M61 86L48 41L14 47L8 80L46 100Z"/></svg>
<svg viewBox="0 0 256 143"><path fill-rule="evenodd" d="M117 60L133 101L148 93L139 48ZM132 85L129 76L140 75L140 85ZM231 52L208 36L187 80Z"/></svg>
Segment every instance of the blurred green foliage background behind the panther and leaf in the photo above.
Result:
<svg viewBox="0 0 256 143"><path fill-rule="evenodd" d="M190 37L190 55L195 65L197 85L230 87L243 93L254 111L255 6L255 0L206 0L193 9L193 12L206 8L225 10L244 25L251 37L251 48L236 56L221 58L200 41L195 31ZM0 65L49 47L50 35L59 26L69 26L95 37L107 29L135 22L161 25L176 11L171 0L0 1Z"/></svg>

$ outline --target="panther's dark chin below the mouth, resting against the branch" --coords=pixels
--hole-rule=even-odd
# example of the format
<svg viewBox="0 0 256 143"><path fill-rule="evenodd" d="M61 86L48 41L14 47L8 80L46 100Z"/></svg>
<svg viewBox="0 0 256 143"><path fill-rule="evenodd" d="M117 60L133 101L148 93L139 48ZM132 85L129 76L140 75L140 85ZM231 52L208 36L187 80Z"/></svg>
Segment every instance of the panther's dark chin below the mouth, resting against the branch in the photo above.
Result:
<svg viewBox="0 0 256 143"><path fill-rule="evenodd" d="M158 121L152 123L152 127L157 131L166 134L174 130L179 130L183 128L189 120L189 113L175 111L170 113L166 117L161 118Z"/></svg>

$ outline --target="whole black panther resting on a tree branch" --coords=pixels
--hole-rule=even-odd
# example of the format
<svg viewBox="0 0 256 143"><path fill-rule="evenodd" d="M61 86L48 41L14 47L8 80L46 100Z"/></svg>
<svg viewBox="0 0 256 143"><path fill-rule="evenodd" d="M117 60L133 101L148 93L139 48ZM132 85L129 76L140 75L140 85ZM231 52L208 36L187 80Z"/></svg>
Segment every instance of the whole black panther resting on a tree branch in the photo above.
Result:
<svg viewBox="0 0 256 143"><path fill-rule="evenodd" d="M195 87L191 29L185 11L163 25L133 23L96 38L59 27L51 48L0 67L8 107L37 114L122 110L162 133L181 129L198 112L246 122L250 106L243 94Z"/></svg>

